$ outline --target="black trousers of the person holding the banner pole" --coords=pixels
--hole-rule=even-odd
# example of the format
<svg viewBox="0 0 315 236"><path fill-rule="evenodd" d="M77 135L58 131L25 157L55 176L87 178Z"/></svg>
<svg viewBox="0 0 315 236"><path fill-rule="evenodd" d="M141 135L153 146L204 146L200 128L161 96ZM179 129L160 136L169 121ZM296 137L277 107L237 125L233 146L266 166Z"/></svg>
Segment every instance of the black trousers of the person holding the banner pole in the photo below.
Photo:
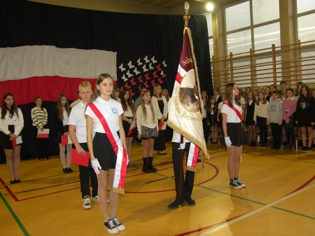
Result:
<svg viewBox="0 0 315 236"><path fill-rule="evenodd" d="M179 143L172 142L172 158L173 158L173 167L174 167L174 176L175 176L175 188L176 188L176 199L179 199L179 168L183 169L183 166L179 166L179 158L181 150L179 149ZM190 143L186 143L186 157L188 157L190 148ZM187 162L186 158L186 162ZM193 186L194 186L194 177L195 172L190 172L186 170L186 176L184 179L184 176L182 176L181 181L181 202L185 200L185 198L188 198L191 196L191 193L193 193Z"/></svg>

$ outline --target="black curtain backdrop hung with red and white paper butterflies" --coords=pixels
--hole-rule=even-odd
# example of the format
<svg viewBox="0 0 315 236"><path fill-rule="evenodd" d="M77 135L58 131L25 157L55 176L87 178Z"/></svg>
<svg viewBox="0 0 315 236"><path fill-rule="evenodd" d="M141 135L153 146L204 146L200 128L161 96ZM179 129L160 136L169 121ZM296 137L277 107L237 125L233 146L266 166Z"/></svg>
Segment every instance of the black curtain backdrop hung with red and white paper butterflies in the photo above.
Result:
<svg viewBox="0 0 315 236"><path fill-rule="evenodd" d="M206 17L191 15L188 26L192 31L201 90L211 94ZM136 99L139 88L152 90L154 84L160 84L172 95L183 46L183 16L111 13L31 1L0 0L0 48L33 45L117 52L119 88L130 88ZM0 92L2 96L9 91L0 88ZM55 102L45 102L44 106L50 115ZM34 144L27 137L34 104L19 107L25 117L21 159L34 158ZM51 121L51 116L48 120ZM51 129L50 133L54 132L53 127ZM57 154L57 149L57 144L50 141L50 154ZM1 150L0 162L4 161Z"/></svg>

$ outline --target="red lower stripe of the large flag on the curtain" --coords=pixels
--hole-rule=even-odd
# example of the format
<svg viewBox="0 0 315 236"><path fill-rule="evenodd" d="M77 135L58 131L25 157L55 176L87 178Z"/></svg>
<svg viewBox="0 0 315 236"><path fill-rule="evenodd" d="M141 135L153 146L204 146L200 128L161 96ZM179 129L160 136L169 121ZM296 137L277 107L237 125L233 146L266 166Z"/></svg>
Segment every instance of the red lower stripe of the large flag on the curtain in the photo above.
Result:
<svg viewBox="0 0 315 236"><path fill-rule="evenodd" d="M57 101L59 94L63 93L68 100L78 99L78 85L83 81L89 81L92 90L95 88L96 78L66 78L61 76L36 76L18 80L1 81L2 94L13 94L15 104L29 104L34 102L35 97L40 96L43 101Z"/></svg>

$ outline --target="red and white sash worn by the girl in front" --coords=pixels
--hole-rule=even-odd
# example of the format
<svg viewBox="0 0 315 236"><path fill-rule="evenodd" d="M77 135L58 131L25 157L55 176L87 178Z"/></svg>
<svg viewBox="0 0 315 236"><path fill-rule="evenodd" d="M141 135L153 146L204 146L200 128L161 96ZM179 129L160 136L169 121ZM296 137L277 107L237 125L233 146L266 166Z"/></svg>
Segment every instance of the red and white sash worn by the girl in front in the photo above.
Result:
<svg viewBox="0 0 315 236"><path fill-rule="evenodd" d="M113 181L113 192L125 194L124 190L128 164L128 155L126 149L123 147L123 140L121 139L121 137L120 138L118 137L116 130L114 130L113 128L111 118L109 118L109 115L106 113L105 109L102 106L100 106L99 102L94 101L88 104L87 106L90 106L90 109L92 109L94 114L102 123L106 135L109 138L109 141L111 141L113 150L117 155L115 176ZM103 112L101 113L101 111Z"/></svg>

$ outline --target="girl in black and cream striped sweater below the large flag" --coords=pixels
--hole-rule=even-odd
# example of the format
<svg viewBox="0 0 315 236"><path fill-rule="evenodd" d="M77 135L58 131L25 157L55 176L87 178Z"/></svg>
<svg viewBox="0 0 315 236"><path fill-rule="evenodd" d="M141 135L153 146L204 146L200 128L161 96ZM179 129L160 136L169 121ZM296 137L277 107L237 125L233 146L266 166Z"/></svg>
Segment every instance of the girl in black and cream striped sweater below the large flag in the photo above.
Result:
<svg viewBox="0 0 315 236"><path fill-rule="evenodd" d="M33 121L33 133L34 141L36 144L36 155L38 160L48 160L49 158L49 148L47 138L37 138L38 130L43 131L48 123L48 113L45 108L43 108L43 101L41 97L36 97L36 106L31 109L31 120Z"/></svg>

